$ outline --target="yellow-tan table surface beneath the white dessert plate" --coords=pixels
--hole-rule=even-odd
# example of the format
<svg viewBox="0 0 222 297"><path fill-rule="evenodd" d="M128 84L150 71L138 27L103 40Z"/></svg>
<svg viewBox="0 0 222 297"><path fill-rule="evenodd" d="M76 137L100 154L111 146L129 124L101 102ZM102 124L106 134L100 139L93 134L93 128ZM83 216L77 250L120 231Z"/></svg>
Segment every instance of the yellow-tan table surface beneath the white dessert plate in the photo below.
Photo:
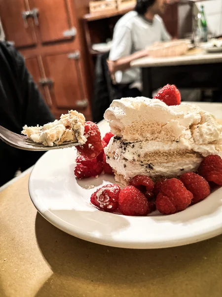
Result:
<svg viewBox="0 0 222 297"><path fill-rule="evenodd" d="M28 179L0 193L0 297L222 297L222 236L147 250L85 242L37 213Z"/></svg>

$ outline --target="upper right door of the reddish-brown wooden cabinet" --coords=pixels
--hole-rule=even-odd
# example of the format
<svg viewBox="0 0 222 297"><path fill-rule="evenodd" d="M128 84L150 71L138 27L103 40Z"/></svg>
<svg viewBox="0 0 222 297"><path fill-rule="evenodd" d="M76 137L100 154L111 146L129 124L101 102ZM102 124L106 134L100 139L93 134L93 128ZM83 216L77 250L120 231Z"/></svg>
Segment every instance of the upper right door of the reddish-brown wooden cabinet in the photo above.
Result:
<svg viewBox="0 0 222 297"><path fill-rule="evenodd" d="M68 0L29 0L31 9L37 8L37 30L42 43L72 39L67 36L72 28ZM71 30L72 35L72 30Z"/></svg>

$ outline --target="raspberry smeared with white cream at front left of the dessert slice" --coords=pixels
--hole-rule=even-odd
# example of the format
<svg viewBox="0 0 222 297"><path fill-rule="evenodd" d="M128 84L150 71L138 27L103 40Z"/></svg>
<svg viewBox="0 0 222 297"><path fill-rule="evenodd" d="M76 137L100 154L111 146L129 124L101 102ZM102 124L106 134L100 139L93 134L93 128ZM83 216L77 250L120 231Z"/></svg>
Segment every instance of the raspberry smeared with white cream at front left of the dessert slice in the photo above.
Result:
<svg viewBox="0 0 222 297"><path fill-rule="evenodd" d="M105 185L92 194L90 201L98 208L112 212L118 208L118 199L121 189L118 185Z"/></svg>

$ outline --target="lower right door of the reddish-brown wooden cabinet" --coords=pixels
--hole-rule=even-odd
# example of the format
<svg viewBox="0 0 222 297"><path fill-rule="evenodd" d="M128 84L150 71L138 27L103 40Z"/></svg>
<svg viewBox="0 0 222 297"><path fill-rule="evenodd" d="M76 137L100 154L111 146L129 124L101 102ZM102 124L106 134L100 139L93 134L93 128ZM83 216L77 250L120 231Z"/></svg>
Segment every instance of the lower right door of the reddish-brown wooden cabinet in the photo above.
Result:
<svg viewBox="0 0 222 297"><path fill-rule="evenodd" d="M70 59L69 53L43 58L45 74L53 81L50 89L53 112L69 109L83 110L88 105L82 80L80 61Z"/></svg>

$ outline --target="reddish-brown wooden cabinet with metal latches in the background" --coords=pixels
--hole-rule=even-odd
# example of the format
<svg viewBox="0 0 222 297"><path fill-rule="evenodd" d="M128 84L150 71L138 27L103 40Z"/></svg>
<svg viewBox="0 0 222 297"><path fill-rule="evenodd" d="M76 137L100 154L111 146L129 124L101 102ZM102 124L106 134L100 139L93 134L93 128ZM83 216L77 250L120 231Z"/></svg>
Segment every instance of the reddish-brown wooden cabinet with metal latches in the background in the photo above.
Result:
<svg viewBox="0 0 222 297"><path fill-rule="evenodd" d="M54 115L76 109L90 120L74 5L73 0L0 0L0 18L6 40L24 55Z"/></svg>

